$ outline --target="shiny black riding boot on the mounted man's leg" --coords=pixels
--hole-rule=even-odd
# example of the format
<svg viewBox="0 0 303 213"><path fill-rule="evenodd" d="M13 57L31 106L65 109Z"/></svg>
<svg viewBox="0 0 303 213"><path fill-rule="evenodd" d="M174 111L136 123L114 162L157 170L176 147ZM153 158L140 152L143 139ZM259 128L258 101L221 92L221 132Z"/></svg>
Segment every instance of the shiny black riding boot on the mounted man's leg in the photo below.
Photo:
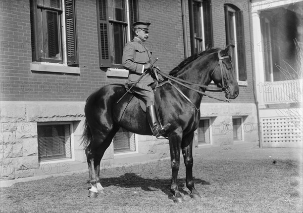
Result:
<svg viewBox="0 0 303 213"><path fill-rule="evenodd" d="M151 131L153 131L154 136L156 136L157 138L162 136L170 127L170 123L161 126L159 120L158 120L158 116L157 116L157 111L156 111L156 106L155 105L151 105L146 107L146 115L147 115L147 119L150 125L150 129Z"/></svg>

